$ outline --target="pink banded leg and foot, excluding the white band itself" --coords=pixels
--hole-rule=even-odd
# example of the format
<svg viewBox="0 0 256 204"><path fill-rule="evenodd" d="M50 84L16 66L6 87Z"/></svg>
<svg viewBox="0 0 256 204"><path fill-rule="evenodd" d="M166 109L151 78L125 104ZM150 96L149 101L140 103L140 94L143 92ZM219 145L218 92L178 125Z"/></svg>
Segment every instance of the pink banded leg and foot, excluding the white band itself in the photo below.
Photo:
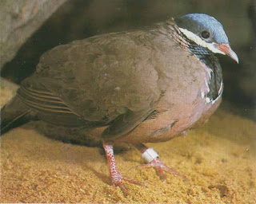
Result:
<svg viewBox="0 0 256 204"><path fill-rule="evenodd" d="M134 146L137 147L138 150L142 152L142 154L149 149L142 143L134 144ZM182 179L187 180L186 177L184 175L181 175L180 173L178 173L178 171L175 171L174 169L167 167L164 163L162 163L160 161L160 159L158 159L158 157L152 158L150 160L151 160L150 162L147 161L146 164L142 164L138 167L140 167L140 168L154 167L158 176L163 180L166 180L166 175L164 174L164 171L169 172L170 174L173 174L173 175L178 175L178 176L182 177Z"/></svg>

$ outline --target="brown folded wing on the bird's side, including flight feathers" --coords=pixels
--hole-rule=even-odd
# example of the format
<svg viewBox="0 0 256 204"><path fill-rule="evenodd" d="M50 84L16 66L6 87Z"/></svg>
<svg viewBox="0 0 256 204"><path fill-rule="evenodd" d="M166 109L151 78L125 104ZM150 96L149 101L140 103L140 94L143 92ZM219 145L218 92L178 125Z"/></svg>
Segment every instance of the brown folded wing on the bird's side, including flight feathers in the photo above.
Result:
<svg viewBox="0 0 256 204"><path fill-rule="evenodd" d="M105 138L125 135L161 96L150 37L117 33L58 46L42 55L19 94L34 109L109 125Z"/></svg>

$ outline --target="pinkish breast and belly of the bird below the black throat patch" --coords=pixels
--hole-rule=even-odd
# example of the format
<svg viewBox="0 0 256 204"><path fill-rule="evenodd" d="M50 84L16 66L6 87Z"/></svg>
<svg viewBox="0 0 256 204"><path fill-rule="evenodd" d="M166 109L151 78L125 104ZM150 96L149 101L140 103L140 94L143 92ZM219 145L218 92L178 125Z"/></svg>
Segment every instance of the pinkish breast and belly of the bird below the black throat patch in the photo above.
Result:
<svg viewBox="0 0 256 204"><path fill-rule="evenodd" d="M143 121L120 140L144 143L166 141L202 124L218 108L223 87L218 90L218 97L210 100L207 96L210 91L209 70L200 61L188 63L186 69L181 67L178 72L159 79L159 83L168 85L155 105L154 117Z"/></svg>

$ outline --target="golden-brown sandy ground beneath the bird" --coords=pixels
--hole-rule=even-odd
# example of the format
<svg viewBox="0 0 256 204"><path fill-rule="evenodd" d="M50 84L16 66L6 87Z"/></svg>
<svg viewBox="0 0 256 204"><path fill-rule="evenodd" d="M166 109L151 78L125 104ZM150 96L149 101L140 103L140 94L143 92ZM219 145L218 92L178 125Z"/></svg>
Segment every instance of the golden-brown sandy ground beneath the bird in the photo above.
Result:
<svg viewBox="0 0 256 204"><path fill-rule="evenodd" d="M13 92L2 88L1 105ZM210 121L166 143L149 143L162 162L186 175L188 182L154 169L133 147L116 155L122 175L145 182L125 183L130 194L110 185L106 158L98 147L46 138L16 128L1 139L0 202L103 203L256 203L256 127L251 120L218 110Z"/></svg>

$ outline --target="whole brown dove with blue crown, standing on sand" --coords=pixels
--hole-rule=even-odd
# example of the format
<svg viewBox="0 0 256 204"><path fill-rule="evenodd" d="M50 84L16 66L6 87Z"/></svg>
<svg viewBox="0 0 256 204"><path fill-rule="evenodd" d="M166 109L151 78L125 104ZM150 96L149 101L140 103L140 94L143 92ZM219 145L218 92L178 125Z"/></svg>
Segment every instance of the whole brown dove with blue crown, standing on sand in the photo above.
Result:
<svg viewBox="0 0 256 204"><path fill-rule="evenodd" d="M128 143L165 178L153 148L204 124L222 100L218 54L238 63L220 22L185 14L140 29L105 33L58 45L43 53L35 73L22 81L2 110L2 135L32 120L78 128L102 143L110 179L127 194L114 145Z"/></svg>

